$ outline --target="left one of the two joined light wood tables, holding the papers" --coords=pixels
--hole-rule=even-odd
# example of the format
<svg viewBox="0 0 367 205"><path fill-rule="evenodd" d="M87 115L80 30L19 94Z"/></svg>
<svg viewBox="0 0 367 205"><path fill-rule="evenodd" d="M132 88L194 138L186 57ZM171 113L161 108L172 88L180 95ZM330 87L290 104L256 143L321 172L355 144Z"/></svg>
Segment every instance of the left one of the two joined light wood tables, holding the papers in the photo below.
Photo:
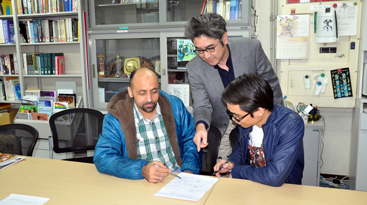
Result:
<svg viewBox="0 0 367 205"><path fill-rule="evenodd" d="M204 204L211 188L199 201L153 196L174 177L161 183L122 179L99 173L93 164L26 157L0 170L0 200L10 194L50 198L45 205L70 204Z"/></svg>

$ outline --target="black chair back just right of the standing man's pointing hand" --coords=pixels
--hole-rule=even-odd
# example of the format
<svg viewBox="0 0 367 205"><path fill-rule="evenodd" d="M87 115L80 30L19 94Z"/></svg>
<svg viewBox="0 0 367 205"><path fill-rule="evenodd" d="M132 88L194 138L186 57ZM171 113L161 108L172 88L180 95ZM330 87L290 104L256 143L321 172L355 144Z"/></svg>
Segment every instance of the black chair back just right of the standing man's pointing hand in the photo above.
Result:
<svg viewBox="0 0 367 205"><path fill-rule="evenodd" d="M207 137L208 146L203 148L203 165L201 167L201 175L211 176L211 174L213 174L214 166L217 163L221 139L221 132L216 127L210 126Z"/></svg>

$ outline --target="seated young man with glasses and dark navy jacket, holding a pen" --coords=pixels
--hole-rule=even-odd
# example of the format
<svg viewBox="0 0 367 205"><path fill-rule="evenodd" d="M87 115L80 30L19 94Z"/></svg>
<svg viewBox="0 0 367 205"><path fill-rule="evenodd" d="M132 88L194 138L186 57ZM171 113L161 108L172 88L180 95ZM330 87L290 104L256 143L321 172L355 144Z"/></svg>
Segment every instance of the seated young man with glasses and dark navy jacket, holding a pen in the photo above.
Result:
<svg viewBox="0 0 367 205"><path fill-rule="evenodd" d="M273 187L301 185L304 168L302 118L274 104L273 90L257 74L243 74L222 93L231 118L238 126L238 145L223 165L214 167L227 177L249 179Z"/></svg>

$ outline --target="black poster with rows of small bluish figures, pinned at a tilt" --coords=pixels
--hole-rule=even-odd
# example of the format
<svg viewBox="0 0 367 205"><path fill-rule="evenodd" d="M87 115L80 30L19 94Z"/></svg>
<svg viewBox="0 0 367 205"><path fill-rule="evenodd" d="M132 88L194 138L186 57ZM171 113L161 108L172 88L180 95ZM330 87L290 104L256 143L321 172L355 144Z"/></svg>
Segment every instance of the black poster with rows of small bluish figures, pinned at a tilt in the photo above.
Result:
<svg viewBox="0 0 367 205"><path fill-rule="evenodd" d="M331 70L334 99L352 97L352 83L349 68Z"/></svg>

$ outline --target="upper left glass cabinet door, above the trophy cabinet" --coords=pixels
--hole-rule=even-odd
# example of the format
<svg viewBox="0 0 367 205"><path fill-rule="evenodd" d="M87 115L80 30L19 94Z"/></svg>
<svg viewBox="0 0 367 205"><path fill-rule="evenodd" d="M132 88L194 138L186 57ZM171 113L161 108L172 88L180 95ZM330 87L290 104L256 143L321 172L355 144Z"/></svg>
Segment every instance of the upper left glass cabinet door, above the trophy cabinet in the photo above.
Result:
<svg viewBox="0 0 367 205"><path fill-rule="evenodd" d="M91 27L159 23L158 0L94 0L90 8Z"/></svg>

